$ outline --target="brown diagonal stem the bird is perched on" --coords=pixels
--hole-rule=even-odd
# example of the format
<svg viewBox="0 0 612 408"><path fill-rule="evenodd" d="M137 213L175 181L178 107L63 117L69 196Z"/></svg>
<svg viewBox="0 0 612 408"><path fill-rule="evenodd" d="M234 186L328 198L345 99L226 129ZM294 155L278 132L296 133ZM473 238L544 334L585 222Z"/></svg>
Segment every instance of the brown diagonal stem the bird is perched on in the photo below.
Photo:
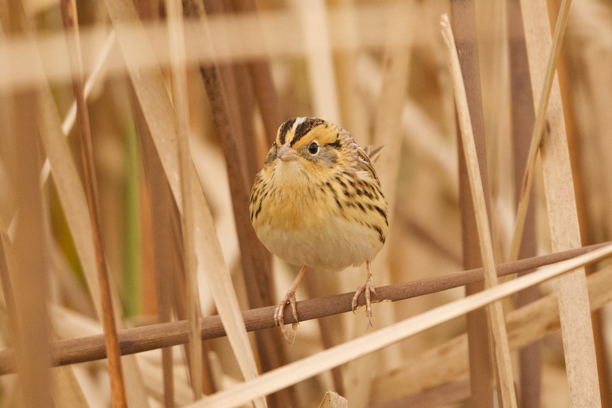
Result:
<svg viewBox="0 0 612 408"><path fill-rule="evenodd" d="M577 248L575 250L563 251L554 254L537 256L534 258L521 259L520 261L508 262L496 267L498 276L512 275L513 273L526 272L544 265L554 264L565 259L594 251L605 247L612 242L599 243L589 247ZM425 278L408 283L400 283L376 288L378 300L410 299L412 297L427 295L435 292L446 291L453 287L476 283L483 280L482 268L471 269L462 272L449 273L447 275ZM351 299L354 292L334 295L319 299L309 299L297 302L297 317L300 321L318 319L319 317L331 316L332 314L346 313L351 311ZM376 302L376 300L375 300ZM358 306L364 305L364 296L361 295ZM272 316L275 306L246 310L242 313L244 322L249 332L275 327ZM285 324L291 324L295 319L291 313L285 316ZM218 338L225 335L221 319L218 316L203 317L202 339ZM162 347L176 346L187 343L187 321L152 324L144 327L130 328L119 333L119 343L123 355L134 354L143 351L160 349ZM280 337L280 336L278 336ZM64 339L53 343L51 349L53 366L83 363L106 358L103 335L86 336L76 339ZM15 357L12 349L0 351L0 375L15 371Z"/></svg>

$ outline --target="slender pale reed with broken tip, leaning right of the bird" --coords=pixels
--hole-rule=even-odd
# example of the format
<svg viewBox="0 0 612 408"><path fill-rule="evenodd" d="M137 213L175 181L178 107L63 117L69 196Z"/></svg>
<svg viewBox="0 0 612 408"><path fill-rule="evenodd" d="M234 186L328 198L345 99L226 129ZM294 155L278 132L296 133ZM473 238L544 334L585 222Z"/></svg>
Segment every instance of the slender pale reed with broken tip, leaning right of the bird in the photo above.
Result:
<svg viewBox="0 0 612 408"><path fill-rule="evenodd" d="M455 89L455 101L457 103L457 114L461 128L461 141L465 152L466 167L476 213L476 224L480 242L480 252L482 254L482 264L485 269L485 285L490 288L498 283L495 272L495 261L493 258L493 242L491 240L491 230L485 204L485 195L480 179L480 169L476 154L476 144L472 133L471 119L469 117L468 99L466 97L465 86L461 76L461 66L455 48L455 39L450 21L447 15L442 15L442 35L446 40L450 51L450 71L453 78ZM495 302L488 307L488 317L491 325L491 335L495 351L495 360L498 374L499 396L503 407L516 407L517 399L514 391L514 376L512 373L512 362L510 361L510 347L508 346L508 336L506 333L506 322L504 322L504 310L501 302Z"/></svg>

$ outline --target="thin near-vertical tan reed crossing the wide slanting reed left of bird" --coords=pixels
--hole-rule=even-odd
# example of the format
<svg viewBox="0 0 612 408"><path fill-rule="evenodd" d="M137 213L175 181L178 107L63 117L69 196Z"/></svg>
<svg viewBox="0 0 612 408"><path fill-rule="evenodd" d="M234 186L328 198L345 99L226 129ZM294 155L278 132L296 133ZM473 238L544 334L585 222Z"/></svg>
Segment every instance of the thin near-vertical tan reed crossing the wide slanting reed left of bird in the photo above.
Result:
<svg viewBox="0 0 612 408"><path fill-rule="evenodd" d="M183 7L180 0L167 0L166 13L170 37L172 94L177 129L177 152L182 196L183 265L185 267L187 321L189 322L190 376L195 400L202 398L202 346L200 339L200 302L195 259L195 217L191 150L189 148L189 112L187 103L187 72Z"/></svg>

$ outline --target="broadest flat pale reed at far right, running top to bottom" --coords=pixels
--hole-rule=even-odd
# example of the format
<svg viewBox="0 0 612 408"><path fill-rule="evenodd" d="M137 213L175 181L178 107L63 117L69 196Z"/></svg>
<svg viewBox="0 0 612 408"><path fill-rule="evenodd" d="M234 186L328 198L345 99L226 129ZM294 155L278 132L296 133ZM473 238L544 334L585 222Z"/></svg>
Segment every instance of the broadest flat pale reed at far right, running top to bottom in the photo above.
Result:
<svg viewBox="0 0 612 408"><path fill-rule="evenodd" d="M573 189L572 170L569 162L567 134L559 84L551 65L556 65L562 32L567 23L569 1L564 0L557 18L553 44L550 43L550 26L545 2L521 2L529 57L532 94L534 100L540 89L550 94L548 116L537 112L536 122L545 121L547 132L542 135L542 170L544 191L547 200L548 222L551 229L553 251L580 246L580 228ZM539 57L546 51L551 53L548 67L544 70ZM546 75L542 77L542 72ZM544 93L544 92L542 92ZM542 102L546 103L546 102ZM542 105L540 103L540 105ZM546 110L546 109L544 109ZM539 128L543 127L539 125ZM537 137L541 129L532 135ZM539 143L538 143L539 144ZM529 171L529 168L526 169ZM565 365L570 384L572 404L589 407L601 406L597 361L589 298L584 270L576 270L556 280L559 291L559 314L564 344Z"/></svg>

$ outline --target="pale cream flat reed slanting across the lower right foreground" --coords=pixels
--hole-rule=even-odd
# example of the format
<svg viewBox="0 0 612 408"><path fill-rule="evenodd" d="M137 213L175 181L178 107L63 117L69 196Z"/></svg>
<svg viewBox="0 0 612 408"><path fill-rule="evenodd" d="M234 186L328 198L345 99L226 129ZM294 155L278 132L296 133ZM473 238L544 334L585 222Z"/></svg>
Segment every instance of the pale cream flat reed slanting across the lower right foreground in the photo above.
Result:
<svg viewBox="0 0 612 408"><path fill-rule="evenodd" d="M442 322L462 316L468 311L496 302L512 295L525 287L542 283L545 280L559 276L569 270L576 269L589 262L596 262L612 254L612 245L608 245L590 254L578 256L557 265L544 267L513 281L499 284L463 299L455 300L446 305L421 313L401 322L397 322L376 332L348 341L340 346L318 352L310 357L264 373L251 380L228 390L207 396L200 402L190 404L185 408L199 407L237 407L251 401L253 398L267 395L276 390L296 384L301 380L323 373L334 366L345 364L355 358L362 357L373 351L394 344L401 339L427 330Z"/></svg>

